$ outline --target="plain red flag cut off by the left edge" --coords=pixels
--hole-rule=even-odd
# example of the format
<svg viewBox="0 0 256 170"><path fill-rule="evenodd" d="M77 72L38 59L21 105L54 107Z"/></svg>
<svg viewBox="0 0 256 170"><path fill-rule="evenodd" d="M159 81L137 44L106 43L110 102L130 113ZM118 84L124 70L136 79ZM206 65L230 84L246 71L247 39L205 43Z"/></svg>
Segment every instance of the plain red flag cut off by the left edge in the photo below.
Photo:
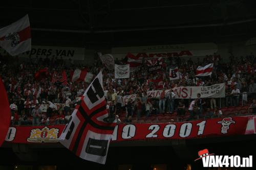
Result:
<svg viewBox="0 0 256 170"><path fill-rule="evenodd" d="M9 107L9 102L6 94L6 90L4 87L4 83L2 82L2 79L0 78L0 147L5 141L6 134L9 129L10 121L11 121L11 110Z"/></svg>

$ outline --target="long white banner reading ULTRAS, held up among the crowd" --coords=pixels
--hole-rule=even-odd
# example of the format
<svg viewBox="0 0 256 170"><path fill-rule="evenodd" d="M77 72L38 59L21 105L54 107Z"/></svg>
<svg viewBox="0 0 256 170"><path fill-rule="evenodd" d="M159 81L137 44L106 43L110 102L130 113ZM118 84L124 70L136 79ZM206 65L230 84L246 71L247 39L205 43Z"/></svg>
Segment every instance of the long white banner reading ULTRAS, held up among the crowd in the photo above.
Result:
<svg viewBox="0 0 256 170"><path fill-rule="evenodd" d="M197 94L201 94L201 98L225 98L225 84L214 84L212 86L181 86L173 88L175 99L196 99ZM162 90L148 91L147 95L152 98L159 98ZM165 94L169 93L170 89L165 90ZM134 101L136 94L123 96L125 105L129 99Z"/></svg>

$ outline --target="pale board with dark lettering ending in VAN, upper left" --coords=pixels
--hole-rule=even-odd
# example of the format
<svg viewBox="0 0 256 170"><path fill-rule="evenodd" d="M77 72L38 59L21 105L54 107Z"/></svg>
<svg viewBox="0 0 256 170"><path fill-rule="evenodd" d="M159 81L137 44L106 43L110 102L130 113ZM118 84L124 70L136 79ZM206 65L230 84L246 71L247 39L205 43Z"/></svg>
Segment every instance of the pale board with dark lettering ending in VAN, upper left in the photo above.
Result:
<svg viewBox="0 0 256 170"><path fill-rule="evenodd" d="M7 54L3 48L0 48L0 54L3 56ZM84 59L84 48L79 47L60 47L60 46L32 46L31 51L19 54L19 57L31 57L31 58L46 58L51 59L55 57L57 59L72 59L72 60L83 60Z"/></svg>

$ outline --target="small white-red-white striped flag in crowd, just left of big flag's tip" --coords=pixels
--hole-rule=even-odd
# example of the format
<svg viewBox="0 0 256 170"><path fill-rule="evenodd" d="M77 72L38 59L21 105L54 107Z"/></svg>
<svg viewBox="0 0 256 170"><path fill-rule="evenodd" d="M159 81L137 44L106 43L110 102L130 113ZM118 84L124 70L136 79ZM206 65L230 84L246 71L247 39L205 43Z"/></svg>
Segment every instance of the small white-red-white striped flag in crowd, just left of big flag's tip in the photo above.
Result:
<svg viewBox="0 0 256 170"><path fill-rule="evenodd" d="M91 72L88 72L87 69L75 69L75 71L71 75L72 82L84 81L90 83L93 79L93 74L91 74Z"/></svg>

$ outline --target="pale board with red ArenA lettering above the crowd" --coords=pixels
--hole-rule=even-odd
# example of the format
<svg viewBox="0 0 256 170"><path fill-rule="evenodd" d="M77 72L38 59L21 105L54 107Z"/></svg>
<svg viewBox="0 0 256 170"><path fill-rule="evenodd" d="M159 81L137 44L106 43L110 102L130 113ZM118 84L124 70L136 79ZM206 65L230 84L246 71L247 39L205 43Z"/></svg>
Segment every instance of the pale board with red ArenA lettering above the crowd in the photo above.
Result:
<svg viewBox="0 0 256 170"><path fill-rule="evenodd" d="M114 58L124 58L127 54L137 59L143 58L168 58L168 57L199 57L217 53L218 47L215 43L193 43L154 46L130 46L113 47Z"/></svg>

